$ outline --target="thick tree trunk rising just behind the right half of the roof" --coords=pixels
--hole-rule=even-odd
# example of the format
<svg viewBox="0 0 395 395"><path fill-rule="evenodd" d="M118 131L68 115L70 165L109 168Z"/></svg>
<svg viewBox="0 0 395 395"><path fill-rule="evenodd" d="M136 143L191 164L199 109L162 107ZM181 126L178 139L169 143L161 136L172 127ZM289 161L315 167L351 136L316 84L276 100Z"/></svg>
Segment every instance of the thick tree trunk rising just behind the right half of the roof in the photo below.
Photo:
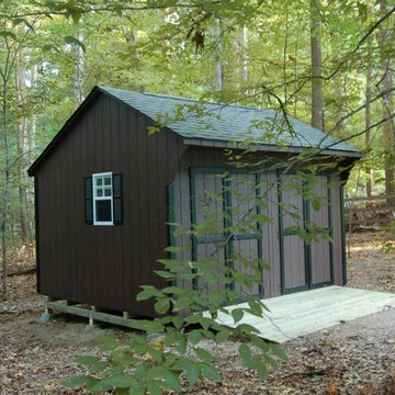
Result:
<svg viewBox="0 0 395 395"><path fill-rule="evenodd" d="M312 126L324 131L323 61L319 0L311 2Z"/></svg>

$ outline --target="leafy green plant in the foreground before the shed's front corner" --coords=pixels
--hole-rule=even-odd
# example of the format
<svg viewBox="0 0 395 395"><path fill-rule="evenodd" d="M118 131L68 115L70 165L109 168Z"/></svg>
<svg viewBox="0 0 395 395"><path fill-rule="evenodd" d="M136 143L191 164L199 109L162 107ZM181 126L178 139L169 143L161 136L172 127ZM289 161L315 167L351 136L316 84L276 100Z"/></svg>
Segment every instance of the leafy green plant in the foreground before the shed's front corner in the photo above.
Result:
<svg viewBox="0 0 395 395"><path fill-rule="evenodd" d="M169 252L179 252L178 248L168 248ZM225 278L227 283L238 281L251 287L255 275L237 273L214 260L202 262L180 262L163 259L165 270L156 273L169 281L176 279L198 280L204 276L205 285ZM253 262L257 267L262 262ZM244 341L239 346L239 356L245 366L257 371L260 379L267 376L268 366L278 368L275 357L285 360L286 356L273 343L258 336L259 330L250 325L240 324L246 313L264 318L266 307L259 296L246 296L245 293L224 287L202 296L202 290L184 290L170 285L158 290L143 286L139 301L155 297L155 311L161 315L154 320L133 320L140 334L132 334L127 341L120 341L113 334L101 338L102 356L84 356L77 362L87 365L89 373L63 383L67 387L84 385L92 393L115 390L117 394L143 395L162 394L169 388L181 392L181 375L193 386L204 377L222 380L215 368L215 357L200 347L203 339L219 345L229 339L230 334ZM242 297L246 307L226 307ZM218 323L218 313L232 315L236 328L232 330ZM147 340L150 336L157 340ZM253 350L252 350L253 348Z"/></svg>

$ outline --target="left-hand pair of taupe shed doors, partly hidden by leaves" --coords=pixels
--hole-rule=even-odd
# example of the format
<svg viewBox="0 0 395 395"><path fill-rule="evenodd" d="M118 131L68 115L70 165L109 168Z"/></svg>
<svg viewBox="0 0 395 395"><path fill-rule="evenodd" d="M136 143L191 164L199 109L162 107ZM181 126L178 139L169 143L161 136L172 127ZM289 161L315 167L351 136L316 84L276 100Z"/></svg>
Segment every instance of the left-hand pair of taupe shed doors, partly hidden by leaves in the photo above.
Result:
<svg viewBox="0 0 395 395"><path fill-rule="evenodd" d="M203 275L194 284L203 295L207 296L210 292L224 286L262 295L261 279L260 284L249 290L226 282L222 272L224 266L232 266L240 272L252 274L249 263L261 258L258 224L246 228L240 226L250 212L257 213L257 206L251 203L256 193L256 174L232 169L191 169L192 224L194 229L210 228L210 232L202 229L192 238L194 260L202 262L203 268L217 268L217 273L222 273L215 282L205 281ZM235 227L232 235L228 232L230 227Z"/></svg>

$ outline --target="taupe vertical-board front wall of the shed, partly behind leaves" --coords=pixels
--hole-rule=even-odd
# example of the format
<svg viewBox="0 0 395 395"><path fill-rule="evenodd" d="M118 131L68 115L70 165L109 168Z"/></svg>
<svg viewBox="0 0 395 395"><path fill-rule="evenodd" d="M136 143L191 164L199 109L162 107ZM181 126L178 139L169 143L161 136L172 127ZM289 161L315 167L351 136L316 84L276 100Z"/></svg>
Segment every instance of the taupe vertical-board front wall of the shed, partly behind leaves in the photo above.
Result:
<svg viewBox="0 0 395 395"><path fill-rule="evenodd" d="M226 157L218 150L189 148L181 159L178 174L174 180L174 213L176 222L183 225L185 229L191 228L191 184L190 169L206 168L207 172L194 176L195 200L201 204L196 205L195 221L201 223L206 218L206 214L218 215L223 210L223 202L207 200L204 191L221 193L221 178L213 176L213 172L221 173L227 169ZM217 168L217 169L215 169ZM219 169L218 169L219 168ZM210 169L210 170L208 170ZM211 173L210 173L211 171ZM232 171L232 169L230 169ZM232 195L232 205L237 206L238 212L233 214L234 223L238 222L242 213L251 210L251 202L242 200L242 195L249 195L249 174L247 182L237 182L237 174L230 174L229 180L236 193ZM314 179L314 194L320 198L320 207L315 211L312 203L304 201L302 195L302 180L294 174L282 177L281 198L283 206L282 230L285 234L280 237L280 217L279 217L279 184L278 176L273 171L259 171L260 179L260 196L266 206L261 208L261 213L269 217L260 230L262 246L262 258L270 266L270 271L263 272L264 296L278 296L284 290L308 289L315 285L330 283L331 280L336 284L340 284L341 278L341 215L339 185L340 178L332 176L316 176ZM330 181L330 192L328 193L328 181ZM219 182L219 183L218 183ZM330 201L329 201L330 198ZM308 208L305 207L308 205ZM306 211L308 210L308 213ZM216 214L215 214L216 213ZM304 227L304 217L308 215L308 221L324 229L331 230L334 237L334 246L318 236L318 240L306 245L296 234L295 226ZM215 217L221 228L221 217ZM331 226L331 229L329 227ZM287 230L287 232L286 232ZM221 232L219 232L221 233ZM191 238L189 236L179 236L176 240L179 246L190 246ZM213 253L213 244L198 244L196 258L204 258ZM248 272L248 268L242 263L242 258L256 259L258 256L257 239L235 240L233 242L234 253L239 253L240 259L235 259L233 264L235 268ZM283 268L281 270L281 249L283 249ZM225 250L226 251L226 250ZM219 256L226 252L218 249L215 253ZM307 255L308 252L308 255ZM178 255L179 259L192 260L192 249L188 248L183 253ZM330 260L332 259L332 272ZM224 259L225 261L225 259ZM308 271L307 271L308 270ZM281 274L282 272L282 274ZM283 284L281 283L283 276ZM332 278L332 279L331 279ZM190 281L179 280L179 285L192 287ZM217 286L221 286L218 283ZM212 285L211 285L212 287ZM258 293L255 287L251 293Z"/></svg>

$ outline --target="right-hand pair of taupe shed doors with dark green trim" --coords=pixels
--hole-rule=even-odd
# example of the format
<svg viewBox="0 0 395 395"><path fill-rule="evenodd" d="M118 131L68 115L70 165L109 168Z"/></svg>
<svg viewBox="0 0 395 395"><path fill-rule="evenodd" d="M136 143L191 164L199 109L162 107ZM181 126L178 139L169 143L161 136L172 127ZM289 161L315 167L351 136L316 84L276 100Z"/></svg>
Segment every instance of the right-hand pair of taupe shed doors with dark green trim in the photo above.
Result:
<svg viewBox="0 0 395 395"><path fill-rule="evenodd" d="M308 190L294 174L281 177L280 248L282 292L290 293L332 282L330 190L326 176L315 176ZM304 194L307 190L307 195ZM305 242L297 233L314 232L315 240Z"/></svg>

